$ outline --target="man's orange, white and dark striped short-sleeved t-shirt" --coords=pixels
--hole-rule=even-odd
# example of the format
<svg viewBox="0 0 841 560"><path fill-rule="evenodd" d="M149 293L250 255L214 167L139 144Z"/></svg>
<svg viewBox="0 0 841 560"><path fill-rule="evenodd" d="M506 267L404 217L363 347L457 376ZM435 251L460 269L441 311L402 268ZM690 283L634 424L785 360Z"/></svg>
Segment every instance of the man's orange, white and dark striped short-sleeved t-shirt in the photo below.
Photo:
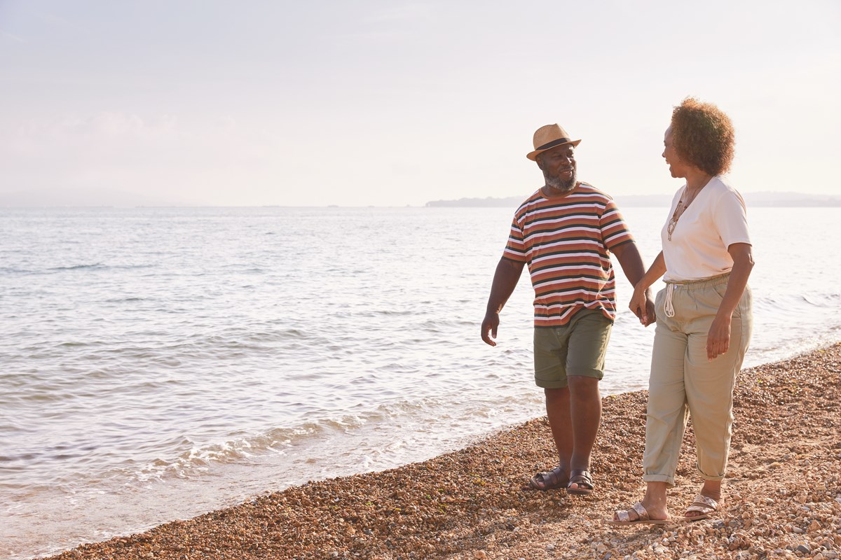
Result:
<svg viewBox="0 0 841 560"><path fill-rule="evenodd" d="M503 256L528 263L535 327L565 325L584 308L616 317L609 250L633 241L613 199L587 183L562 198L540 190L514 214Z"/></svg>

